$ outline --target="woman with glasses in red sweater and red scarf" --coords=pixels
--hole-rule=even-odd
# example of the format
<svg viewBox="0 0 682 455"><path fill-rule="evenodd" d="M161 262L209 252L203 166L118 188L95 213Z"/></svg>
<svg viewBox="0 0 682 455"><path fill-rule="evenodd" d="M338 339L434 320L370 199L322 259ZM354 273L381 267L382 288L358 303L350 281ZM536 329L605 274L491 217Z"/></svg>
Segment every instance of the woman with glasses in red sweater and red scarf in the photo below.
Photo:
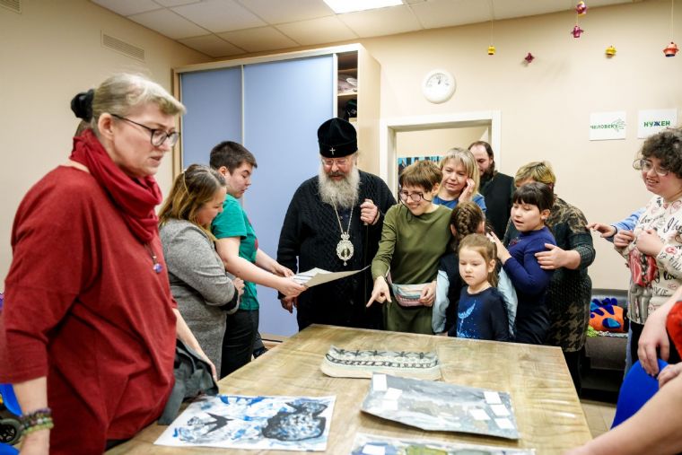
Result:
<svg viewBox="0 0 682 455"><path fill-rule="evenodd" d="M162 413L176 336L203 354L170 296L154 213L153 175L184 106L117 74L72 109L90 128L13 223L0 382L22 407L22 453L101 453L131 438Z"/></svg>

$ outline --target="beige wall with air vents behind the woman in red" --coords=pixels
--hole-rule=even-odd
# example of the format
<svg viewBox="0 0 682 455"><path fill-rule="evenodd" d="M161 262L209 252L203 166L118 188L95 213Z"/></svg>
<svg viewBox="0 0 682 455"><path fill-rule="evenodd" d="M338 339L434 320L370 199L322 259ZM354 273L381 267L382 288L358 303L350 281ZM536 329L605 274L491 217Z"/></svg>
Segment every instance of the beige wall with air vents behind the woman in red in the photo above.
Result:
<svg viewBox="0 0 682 455"><path fill-rule="evenodd" d="M144 48L145 62L100 44L101 31ZM69 102L109 74L135 71L171 88L171 68L210 60L86 0L23 0L0 8L0 278L12 258L10 233L23 195L65 162L77 125ZM170 155L158 174L170 188ZM55 239L58 241L58 239ZM37 251L37 254L40 254ZM4 283L0 283L0 290Z"/></svg>

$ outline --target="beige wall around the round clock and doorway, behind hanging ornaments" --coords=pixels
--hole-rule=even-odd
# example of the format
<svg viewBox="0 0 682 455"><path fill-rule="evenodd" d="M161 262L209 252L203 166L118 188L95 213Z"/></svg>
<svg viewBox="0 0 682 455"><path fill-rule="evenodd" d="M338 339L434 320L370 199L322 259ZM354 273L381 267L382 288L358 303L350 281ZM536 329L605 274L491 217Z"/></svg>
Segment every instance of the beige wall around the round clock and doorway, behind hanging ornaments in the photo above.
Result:
<svg viewBox="0 0 682 455"><path fill-rule="evenodd" d="M502 112L501 171L548 160L556 192L581 208L590 221L612 222L643 206L651 194L632 170L638 109L682 105L682 54L663 56L670 41L669 1L593 8L581 17L581 39L569 33L575 14L547 14L494 23L497 54L486 54L490 24L366 39L381 65L381 118L451 114L488 109ZM682 31L682 13L675 18ZM678 43L682 39L678 34ZM616 57L604 50L614 45ZM536 60L526 66L528 52ZM433 68L455 75L450 101L431 104L421 94ZM627 137L590 142L590 112L625 110ZM679 115L679 111L678 111ZM625 288L624 260L594 237L597 259L590 267L595 287Z"/></svg>

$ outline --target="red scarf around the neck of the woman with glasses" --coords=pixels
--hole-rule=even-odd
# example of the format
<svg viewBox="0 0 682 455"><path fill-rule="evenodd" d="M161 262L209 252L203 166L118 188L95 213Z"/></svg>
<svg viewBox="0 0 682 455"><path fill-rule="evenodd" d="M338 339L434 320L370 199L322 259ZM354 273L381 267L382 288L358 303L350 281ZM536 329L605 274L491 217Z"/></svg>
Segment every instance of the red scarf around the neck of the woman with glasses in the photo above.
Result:
<svg viewBox="0 0 682 455"><path fill-rule="evenodd" d="M161 189L153 177L131 178L111 160L100 141L87 129L74 137L74 162L83 164L114 201L128 229L146 243L158 229L154 207L162 202Z"/></svg>

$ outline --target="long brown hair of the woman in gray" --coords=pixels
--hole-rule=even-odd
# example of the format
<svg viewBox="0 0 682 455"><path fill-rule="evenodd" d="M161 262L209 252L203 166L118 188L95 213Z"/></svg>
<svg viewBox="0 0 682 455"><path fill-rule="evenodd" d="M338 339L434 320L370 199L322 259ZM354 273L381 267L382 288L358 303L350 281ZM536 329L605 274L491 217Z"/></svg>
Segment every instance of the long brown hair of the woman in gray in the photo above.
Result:
<svg viewBox="0 0 682 455"><path fill-rule="evenodd" d="M163 225L170 219L187 220L197 224L213 238L207 226L197 222L197 213L224 186L225 178L219 172L201 164L192 164L173 181L170 195L159 214L159 224Z"/></svg>

